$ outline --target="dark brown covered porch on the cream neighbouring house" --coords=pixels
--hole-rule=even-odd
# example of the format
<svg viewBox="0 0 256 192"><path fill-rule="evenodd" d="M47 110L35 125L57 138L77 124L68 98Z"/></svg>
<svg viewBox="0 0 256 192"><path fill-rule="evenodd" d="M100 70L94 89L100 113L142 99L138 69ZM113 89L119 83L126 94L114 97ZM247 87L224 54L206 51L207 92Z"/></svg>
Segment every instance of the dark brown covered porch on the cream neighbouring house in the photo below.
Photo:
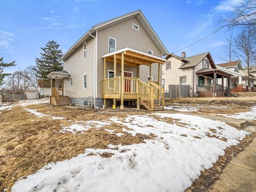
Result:
<svg viewBox="0 0 256 192"><path fill-rule="evenodd" d="M196 94L198 97L230 97L233 92L230 89L229 73L219 69L203 68L196 72L198 84L196 85ZM205 81L205 78L207 79ZM227 86L225 86L224 79L227 79ZM203 80L201 80L203 79ZM218 84L218 79L221 79L221 84Z"/></svg>

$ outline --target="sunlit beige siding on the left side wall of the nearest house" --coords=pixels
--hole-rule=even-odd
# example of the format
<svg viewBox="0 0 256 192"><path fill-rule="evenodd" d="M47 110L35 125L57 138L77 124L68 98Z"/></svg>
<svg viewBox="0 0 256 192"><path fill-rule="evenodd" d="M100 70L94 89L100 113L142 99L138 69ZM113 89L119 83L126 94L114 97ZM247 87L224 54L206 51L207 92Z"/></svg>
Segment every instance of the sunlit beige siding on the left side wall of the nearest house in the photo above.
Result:
<svg viewBox="0 0 256 192"><path fill-rule="evenodd" d="M94 39L90 37L86 43L86 58L82 44L63 63L63 70L68 71L70 77L73 77L73 85L70 85L70 77L66 79L65 93L71 98L94 96ZM83 89L84 74L87 75L86 89Z"/></svg>

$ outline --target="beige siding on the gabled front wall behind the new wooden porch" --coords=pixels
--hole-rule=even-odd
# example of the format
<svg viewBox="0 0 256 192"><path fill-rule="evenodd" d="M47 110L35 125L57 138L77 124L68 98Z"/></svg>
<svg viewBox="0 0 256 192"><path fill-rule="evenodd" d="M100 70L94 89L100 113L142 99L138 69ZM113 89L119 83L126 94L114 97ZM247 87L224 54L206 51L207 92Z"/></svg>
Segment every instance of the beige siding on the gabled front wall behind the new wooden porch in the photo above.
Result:
<svg viewBox="0 0 256 192"><path fill-rule="evenodd" d="M135 23L139 26L139 31L132 28L132 23ZM112 37L116 39L116 50L124 49L125 47L131 47L139 51L146 52L148 50L153 51L154 55L162 57L161 51L158 49L156 44L153 42L151 37L148 35L147 31L137 17L126 19L122 22L111 25L107 28L98 30L98 94L97 97L102 97L102 79L103 79L103 60L102 55L108 53L108 38ZM117 76L119 73L120 65L117 64ZM108 63L107 69L113 69L112 66ZM133 77L135 77L135 67L126 66L124 70L132 69L134 71ZM157 81L158 75L158 66L154 65L152 69L154 81ZM147 76L149 75L149 67L141 66L140 68L140 77L143 81L146 82Z"/></svg>

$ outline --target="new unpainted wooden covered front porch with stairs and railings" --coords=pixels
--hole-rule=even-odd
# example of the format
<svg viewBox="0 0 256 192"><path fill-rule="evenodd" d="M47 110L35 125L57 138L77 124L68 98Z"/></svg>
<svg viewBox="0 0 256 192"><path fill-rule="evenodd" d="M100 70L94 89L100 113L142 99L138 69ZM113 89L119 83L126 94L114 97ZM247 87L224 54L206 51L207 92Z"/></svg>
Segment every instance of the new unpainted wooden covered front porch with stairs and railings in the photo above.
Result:
<svg viewBox="0 0 256 192"><path fill-rule="evenodd" d="M164 89L159 86L161 84L161 65L165 59L138 51L132 48L125 48L102 56L103 73L102 79L102 98L104 99L103 108L106 107L106 99L113 99L113 108L116 108L116 100L121 101L120 109L124 108L124 100L137 101L137 108L140 104L149 110L163 110L164 106ZM114 64L113 77L106 76L106 62ZM158 79L151 81L152 64L158 63ZM121 76L117 76L117 65L121 65ZM136 68L137 76L132 77L129 72L124 70L124 66L132 66ZM140 66L145 65L149 68L148 82L140 79Z"/></svg>

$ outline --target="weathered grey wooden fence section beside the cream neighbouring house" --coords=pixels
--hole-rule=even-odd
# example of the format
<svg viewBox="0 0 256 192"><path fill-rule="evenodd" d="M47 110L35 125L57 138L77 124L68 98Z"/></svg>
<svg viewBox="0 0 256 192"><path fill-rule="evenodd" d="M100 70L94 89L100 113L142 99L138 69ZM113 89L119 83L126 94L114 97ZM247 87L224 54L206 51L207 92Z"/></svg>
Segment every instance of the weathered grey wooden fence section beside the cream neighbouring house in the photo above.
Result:
<svg viewBox="0 0 256 192"><path fill-rule="evenodd" d="M169 99L190 97L190 85L169 85Z"/></svg>

